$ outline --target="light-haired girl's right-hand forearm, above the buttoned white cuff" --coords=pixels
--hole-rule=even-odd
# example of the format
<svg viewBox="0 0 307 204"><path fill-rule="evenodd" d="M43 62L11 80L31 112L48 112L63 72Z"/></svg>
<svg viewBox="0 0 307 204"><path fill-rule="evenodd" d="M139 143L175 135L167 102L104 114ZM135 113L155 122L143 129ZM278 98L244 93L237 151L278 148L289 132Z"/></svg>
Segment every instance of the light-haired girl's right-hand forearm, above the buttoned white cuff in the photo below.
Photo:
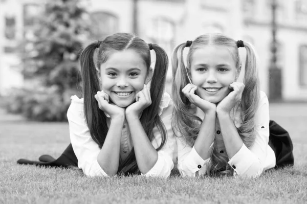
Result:
<svg viewBox="0 0 307 204"><path fill-rule="evenodd" d="M220 122L221 132L225 148L229 158L232 158L242 147L243 141L228 113L218 113L218 121Z"/></svg>

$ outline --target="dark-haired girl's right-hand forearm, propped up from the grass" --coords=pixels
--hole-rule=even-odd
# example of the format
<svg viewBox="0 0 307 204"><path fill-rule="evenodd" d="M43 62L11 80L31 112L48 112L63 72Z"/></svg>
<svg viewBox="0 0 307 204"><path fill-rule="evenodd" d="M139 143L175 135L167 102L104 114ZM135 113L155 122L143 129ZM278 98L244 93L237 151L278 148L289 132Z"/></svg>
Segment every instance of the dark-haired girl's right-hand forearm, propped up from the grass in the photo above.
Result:
<svg viewBox="0 0 307 204"><path fill-rule="evenodd" d="M155 166L158 160L158 152L149 141L139 117L126 115L126 119L129 125L139 170L142 174L146 174Z"/></svg>

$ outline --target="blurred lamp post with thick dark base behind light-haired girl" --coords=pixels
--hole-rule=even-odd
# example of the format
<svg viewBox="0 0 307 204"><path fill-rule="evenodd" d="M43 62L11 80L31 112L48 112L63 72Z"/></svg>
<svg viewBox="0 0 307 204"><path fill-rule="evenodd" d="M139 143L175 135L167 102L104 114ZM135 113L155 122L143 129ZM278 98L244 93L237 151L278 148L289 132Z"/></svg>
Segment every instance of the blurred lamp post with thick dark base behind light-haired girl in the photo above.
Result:
<svg viewBox="0 0 307 204"><path fill-rule="evenodd" d="M271 0L271 9L272 9L272 43L271 43L271 61L269 67L270 73L270 83L269 83L269 99L271 101L281 101L282 100L282 84L281 84L281 69L277 66L277 49L278 44L276 40L276 9L277 9L277 0Z"/></svg>

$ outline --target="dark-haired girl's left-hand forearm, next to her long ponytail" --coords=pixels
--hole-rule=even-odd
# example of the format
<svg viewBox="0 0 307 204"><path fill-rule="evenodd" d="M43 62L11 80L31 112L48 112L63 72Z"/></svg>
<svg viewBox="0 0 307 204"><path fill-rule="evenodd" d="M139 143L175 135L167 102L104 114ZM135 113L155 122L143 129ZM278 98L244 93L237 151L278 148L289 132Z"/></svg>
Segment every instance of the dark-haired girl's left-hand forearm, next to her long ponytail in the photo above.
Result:
<svg viewBox="0 0 307 204"><path fill-rule="evenodd" d="M120 141L124 117L111 120L105 141L97 156L97 162L108 175L115 175L118 171Z"/></svg>

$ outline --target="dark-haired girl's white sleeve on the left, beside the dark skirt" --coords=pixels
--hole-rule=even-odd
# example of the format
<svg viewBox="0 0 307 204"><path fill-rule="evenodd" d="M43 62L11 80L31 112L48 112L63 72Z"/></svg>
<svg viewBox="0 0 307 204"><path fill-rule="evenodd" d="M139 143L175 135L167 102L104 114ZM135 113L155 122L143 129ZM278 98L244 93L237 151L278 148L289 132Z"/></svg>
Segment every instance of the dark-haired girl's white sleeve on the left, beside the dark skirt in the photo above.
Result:
<svg viewBox="0 0 307 204"><path fill-rule="evenodd" d="M107 176L97 162L100 152L98 144L92 139L85 122L83 99L72 96L72 103L67 112L70 139L78 158L78 167L87 176Z"/></svg>

